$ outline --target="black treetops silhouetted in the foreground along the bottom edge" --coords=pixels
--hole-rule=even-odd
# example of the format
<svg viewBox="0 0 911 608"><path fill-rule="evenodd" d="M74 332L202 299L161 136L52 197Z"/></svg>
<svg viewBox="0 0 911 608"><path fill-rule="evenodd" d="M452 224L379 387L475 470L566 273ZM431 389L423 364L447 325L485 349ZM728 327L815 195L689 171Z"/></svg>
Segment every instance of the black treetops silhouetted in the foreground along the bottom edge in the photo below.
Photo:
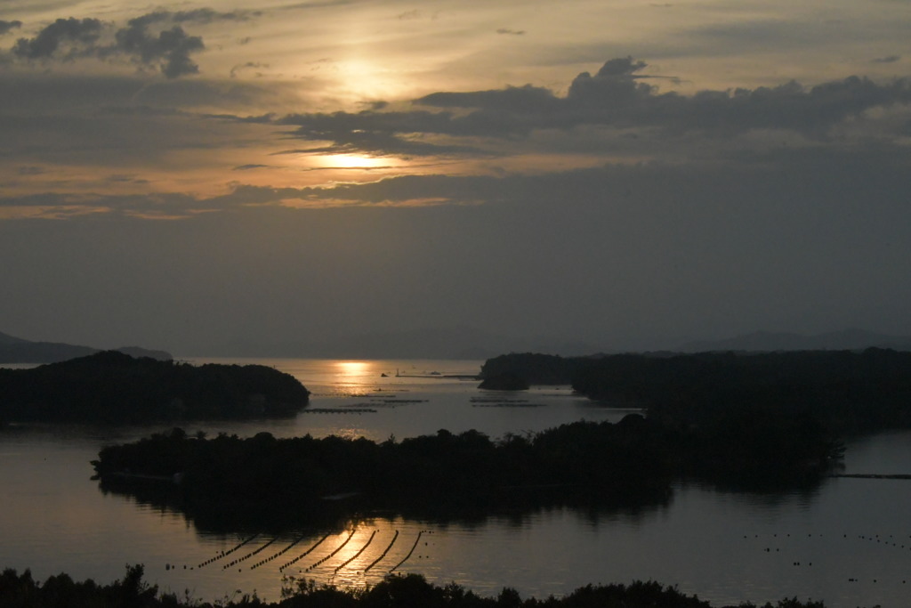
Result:
<svg viewBox="0 0 911 608"><path fill-rule="evenodd" d="M658 582L587 585L562 598L522 598L515 589L505 587L496 597L484 597L451 582L440 586L418 574L389 575L365 589L340 589L298 582L282 592L278 602L267 602L253 595L206 603L174 593L159 593L158 587L142 580L142 566L128 566L122 580L98 584L91 579L75 582L67 574L57 574L36 582L27 571L17 574L7 569L0 574L0 605L5 608L712 608L695 595ZM735 608L720 606L719 608ZM757 608L740 603L736 608ZM825 608L822 602L801 602L796 598L765 603L762 608Z"/></svg>

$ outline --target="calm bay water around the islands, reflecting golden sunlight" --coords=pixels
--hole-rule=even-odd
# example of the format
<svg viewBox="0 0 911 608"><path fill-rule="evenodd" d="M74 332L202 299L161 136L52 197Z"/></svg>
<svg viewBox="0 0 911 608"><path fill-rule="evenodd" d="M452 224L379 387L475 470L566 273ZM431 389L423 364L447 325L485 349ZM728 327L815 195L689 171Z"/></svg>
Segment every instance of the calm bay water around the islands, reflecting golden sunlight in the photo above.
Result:
<svg viewBox="0 0 911 608"><path fill-rule="evenodd" d="M314 411L278 421L194 422L186 430L384 440L476 428L496 438L628 413L595 406L566 387L503 397L444 377L475 374L475 361L230 360L248 362L297 376L312 390ZM143 563L149 582L206 600L253 591L277 600L289 577L360 586L391 570L483 594L512 586L524 596L655 580L713 603L797 596L889 608L906 606L911 589L911 481L831 479L809 494L774 496L678 487L670 503L637 511L559 508L445 525L374 517L328 536L223 535L198 531L178 513L103 494L89 479L89 460L103 445L165 429L29 426L0 433L0 567L30 568L40 580L67 572L107 582L120 578L125 564ZM911 473L911 433L855 442L846 469Z"/></svg>

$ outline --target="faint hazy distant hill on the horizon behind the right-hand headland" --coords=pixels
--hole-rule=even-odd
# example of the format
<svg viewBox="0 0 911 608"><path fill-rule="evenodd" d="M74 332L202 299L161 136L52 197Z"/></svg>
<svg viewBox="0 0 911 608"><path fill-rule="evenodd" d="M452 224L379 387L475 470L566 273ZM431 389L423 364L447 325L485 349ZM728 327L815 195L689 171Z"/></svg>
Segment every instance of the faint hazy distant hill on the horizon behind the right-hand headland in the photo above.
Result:
<svg viewBox="0 0 911 608"><path fill-rule="evenodd" d="M681 353L712 351L774 352L787 350L863 350L869 347L911 350L911 337L844 329L817 335L787 332L753 332L724 340L688 342L674 349Z"/></svg>

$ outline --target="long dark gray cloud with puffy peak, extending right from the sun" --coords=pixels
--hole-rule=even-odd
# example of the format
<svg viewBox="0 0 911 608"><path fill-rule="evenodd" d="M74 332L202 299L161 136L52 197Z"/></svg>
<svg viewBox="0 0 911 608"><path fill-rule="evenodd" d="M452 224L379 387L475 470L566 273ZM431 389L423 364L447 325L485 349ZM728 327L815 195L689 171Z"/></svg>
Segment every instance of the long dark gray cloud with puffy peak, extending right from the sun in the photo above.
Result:
<svg viewBox="0 0 911 608"><path fill-rule="evenodd" d="M815 141L867 110L911 103L911 81L877 83L847 77L805 88L791 81L777 87L702 90L691 96L660 93L644 74L648 64L632 57L610 59L599 71L579 74L566 97L526 85L472 92L437 92L415 99L411 111L289 115L295 137L331 141L318 152L433 155L477 153L498 139L527 138L536 131L578 128L658 129L663 137L731 138L757 130L793 131ZM441 139L447 139L445 143ZM471 138L455 140L458 138ZM608 149L613 143L606 141Z"/></svg>

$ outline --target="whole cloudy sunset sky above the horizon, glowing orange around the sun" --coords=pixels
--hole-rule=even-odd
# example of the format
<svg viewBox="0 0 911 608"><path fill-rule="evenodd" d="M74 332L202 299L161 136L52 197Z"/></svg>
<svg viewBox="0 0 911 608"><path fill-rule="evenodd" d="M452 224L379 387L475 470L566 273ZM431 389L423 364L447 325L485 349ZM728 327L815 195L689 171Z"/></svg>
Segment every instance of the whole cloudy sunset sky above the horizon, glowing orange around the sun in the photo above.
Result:
<svg viewBox="0 0 911 608"><path fill-rule="evenodd" d="M908 40L908 0L0 0L0 331L911 335Z"/></svg>

